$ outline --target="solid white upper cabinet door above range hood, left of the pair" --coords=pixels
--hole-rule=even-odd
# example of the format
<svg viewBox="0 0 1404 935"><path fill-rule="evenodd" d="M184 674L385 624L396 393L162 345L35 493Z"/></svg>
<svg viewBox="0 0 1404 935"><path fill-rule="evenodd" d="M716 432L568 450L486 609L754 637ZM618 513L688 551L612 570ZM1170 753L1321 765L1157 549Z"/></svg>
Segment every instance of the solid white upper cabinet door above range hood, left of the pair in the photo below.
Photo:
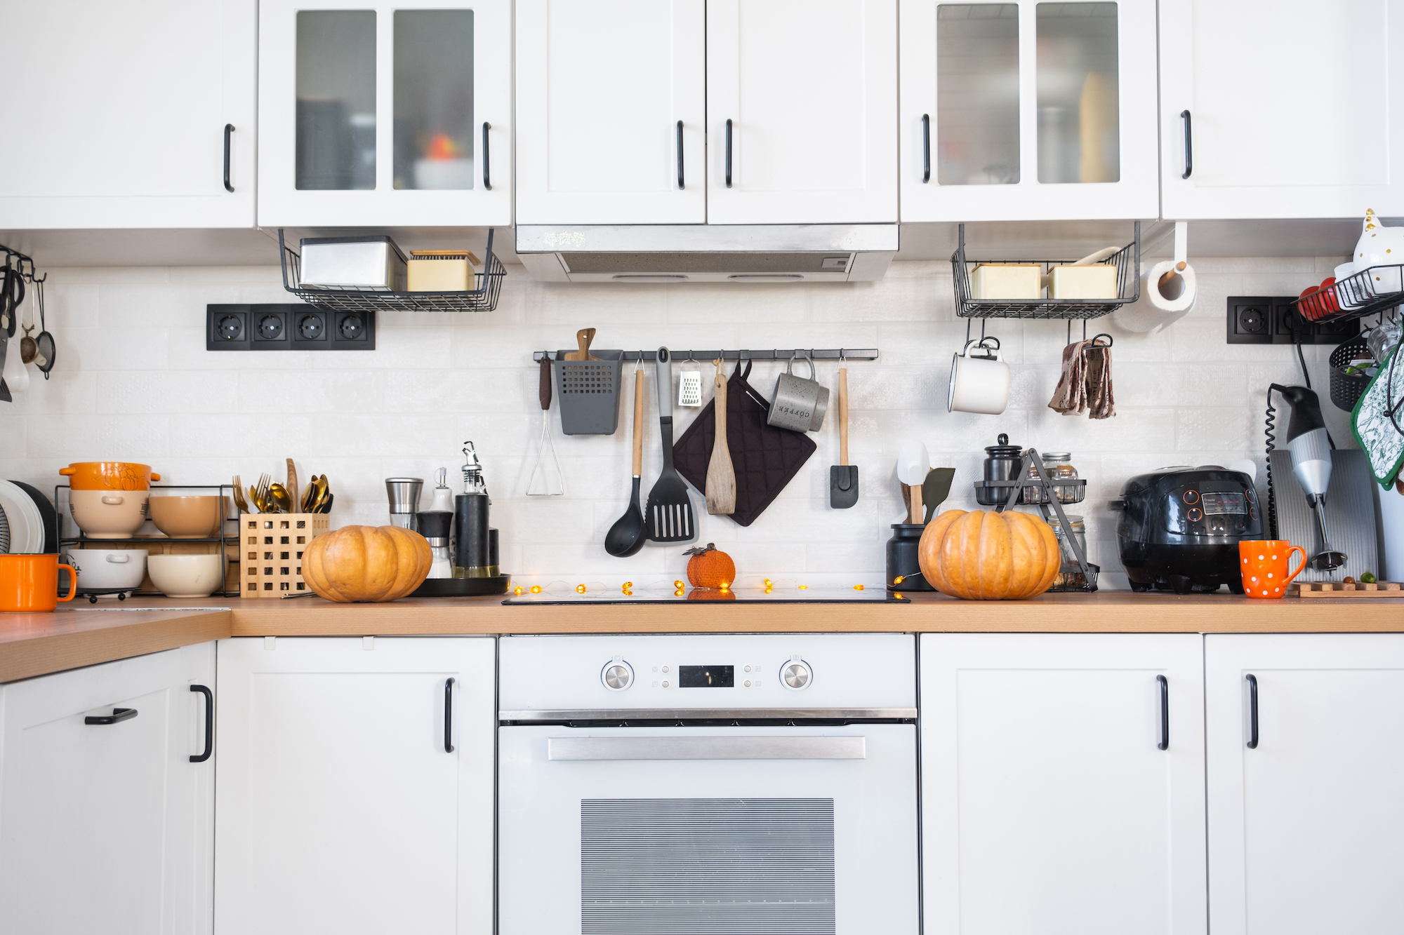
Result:
<svg viewBox="0 0 1404 935"><path fill-rule="evenodd" d="M703 0L518 0L517 220L706 220Z"/></svg>

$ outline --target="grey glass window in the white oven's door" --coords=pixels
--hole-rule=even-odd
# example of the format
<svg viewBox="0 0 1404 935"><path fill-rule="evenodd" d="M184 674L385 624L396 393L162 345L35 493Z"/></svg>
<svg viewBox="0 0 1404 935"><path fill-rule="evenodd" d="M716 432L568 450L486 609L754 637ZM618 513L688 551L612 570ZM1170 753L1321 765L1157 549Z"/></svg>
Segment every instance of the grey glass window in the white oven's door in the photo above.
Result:
<svg viewBox="0 0 1404 935"><path fill-rule="evenodd" d="M581 932L834 934L833 799L583 799Z"/></svg>

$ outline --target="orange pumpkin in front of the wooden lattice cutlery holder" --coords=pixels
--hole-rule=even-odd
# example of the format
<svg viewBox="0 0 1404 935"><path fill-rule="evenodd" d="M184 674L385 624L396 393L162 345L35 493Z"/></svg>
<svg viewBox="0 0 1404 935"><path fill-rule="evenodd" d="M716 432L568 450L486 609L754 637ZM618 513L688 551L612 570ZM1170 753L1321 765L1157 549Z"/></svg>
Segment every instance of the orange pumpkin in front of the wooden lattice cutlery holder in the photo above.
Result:
<svg viewBox="0 0 1404 935"><path fill-rule="evenodd" d="M329 601L395 601L420 587L432 563L434 550L417 532L341 526L307 545L302 577Z"/></svg>

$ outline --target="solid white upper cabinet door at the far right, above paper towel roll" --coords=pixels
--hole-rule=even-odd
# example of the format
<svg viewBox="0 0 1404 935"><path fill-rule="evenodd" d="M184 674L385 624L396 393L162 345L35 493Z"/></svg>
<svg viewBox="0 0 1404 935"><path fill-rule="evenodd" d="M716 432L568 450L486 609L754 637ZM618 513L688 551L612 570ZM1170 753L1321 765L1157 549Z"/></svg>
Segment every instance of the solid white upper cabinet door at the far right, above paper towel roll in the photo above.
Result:
<svg viewBox="0 0 1404 935"><path fill-rule="evenodd" d="M1163 216L1404 213L1401 53L1404 0L1161 0Z"/></svg>

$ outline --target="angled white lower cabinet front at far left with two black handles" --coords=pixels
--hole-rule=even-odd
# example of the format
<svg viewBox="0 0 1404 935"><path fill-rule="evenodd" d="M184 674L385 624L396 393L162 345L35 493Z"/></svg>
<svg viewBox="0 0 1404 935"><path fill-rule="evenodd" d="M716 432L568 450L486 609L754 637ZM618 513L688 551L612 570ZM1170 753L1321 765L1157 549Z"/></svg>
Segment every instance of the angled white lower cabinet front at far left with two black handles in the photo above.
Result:
<svg viewBox="0 0 1404 935"><path fill-rule="evenodd" d="M213 679L202 643L0 685L0 931L212 931L215 762L191 687Z"/></svg>

